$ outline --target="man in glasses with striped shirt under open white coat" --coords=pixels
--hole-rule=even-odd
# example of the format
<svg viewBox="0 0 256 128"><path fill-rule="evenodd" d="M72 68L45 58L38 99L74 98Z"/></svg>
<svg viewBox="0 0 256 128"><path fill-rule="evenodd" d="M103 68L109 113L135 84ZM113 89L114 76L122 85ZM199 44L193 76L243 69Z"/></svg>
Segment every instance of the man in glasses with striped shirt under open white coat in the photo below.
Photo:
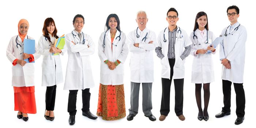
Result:
<svg viewBox="0 0 256 128"><path fill-rule="evenodd" d="M185 58L191 51L191 44L187 33L176 25L178 12L175 8L170 8L167 12L167 22L169 24L159 33L158 47L155 48L157 56L162 64L162 101L160 121L165 120L170 112L170 87L172 79L175 87L175 113L180 120L185 120L183 116L183 84L185 75ZM185 48L185 50L184 50Z"/></svg>

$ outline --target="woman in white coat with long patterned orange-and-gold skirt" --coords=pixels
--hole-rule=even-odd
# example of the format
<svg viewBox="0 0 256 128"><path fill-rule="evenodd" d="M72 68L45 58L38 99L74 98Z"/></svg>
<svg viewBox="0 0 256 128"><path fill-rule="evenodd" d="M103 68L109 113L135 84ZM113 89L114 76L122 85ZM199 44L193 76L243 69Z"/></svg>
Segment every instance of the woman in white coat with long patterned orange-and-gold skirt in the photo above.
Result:
<svg viewBox="0 0 256 128"><path fill-rule="evenodd" d="M98 42L101 72L97 116L102 116L103 120L119 120L126 116L124 62L128 55L128 47L116 14L108 16L105 27L106 31L101 34Z"/></svg>

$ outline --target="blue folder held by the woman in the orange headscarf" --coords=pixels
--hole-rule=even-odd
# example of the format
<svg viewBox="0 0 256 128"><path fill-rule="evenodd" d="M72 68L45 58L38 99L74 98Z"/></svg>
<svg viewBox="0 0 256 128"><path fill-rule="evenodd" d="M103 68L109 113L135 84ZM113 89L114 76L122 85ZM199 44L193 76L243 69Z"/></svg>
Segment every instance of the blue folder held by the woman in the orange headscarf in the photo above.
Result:
<svg viewBox="0 0 256 128"><path fill-rule="evenodd" d="M27 54L34 54L35 53L35 40L34 39L24 39L24 53ZM29 62L29 59L25 59L27 63ZM35 61L31 62L35 63Z"/></svg>

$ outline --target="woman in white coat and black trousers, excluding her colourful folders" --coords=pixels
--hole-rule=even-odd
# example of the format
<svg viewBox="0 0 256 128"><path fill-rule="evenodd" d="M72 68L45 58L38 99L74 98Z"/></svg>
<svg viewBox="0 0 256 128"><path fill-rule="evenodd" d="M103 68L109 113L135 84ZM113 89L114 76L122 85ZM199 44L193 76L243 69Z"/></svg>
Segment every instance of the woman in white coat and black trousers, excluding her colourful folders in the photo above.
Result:
<svg viewBox="0 0 256 128"><path fill-rule="evenodd" d="M43 27L43 35L37 45L38 54L44 56L42 62L42 86L46 86L45 93L45 118L54 120L54 105L56 97L56 85L63 82L60 55L64 55L66 48L57 49L54 47L57 36L57 28L52 18L46 18ZM52 53L59 53L52 55Z"/></svg>

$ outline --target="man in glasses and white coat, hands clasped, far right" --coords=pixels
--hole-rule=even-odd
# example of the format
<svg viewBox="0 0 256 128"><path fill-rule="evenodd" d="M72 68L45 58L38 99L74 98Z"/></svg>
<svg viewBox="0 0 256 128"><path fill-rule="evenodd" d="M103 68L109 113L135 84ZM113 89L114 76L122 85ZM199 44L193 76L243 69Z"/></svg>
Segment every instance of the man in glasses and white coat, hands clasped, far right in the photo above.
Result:
<svg viewBox="0 0 256 128"><path fill-rule="evenodd" d="M222 30L223 41L220 43L219 58L222 66L222 90L223 103L221 113L215 115L221 118L230 115L231 84L236 91L236 114L235 124L241 124L244 120L245 93L243 87L245 42L247 32L244 26L237 22L239 8L232 5L227 8L227 18L230 25Z"/></svg>

